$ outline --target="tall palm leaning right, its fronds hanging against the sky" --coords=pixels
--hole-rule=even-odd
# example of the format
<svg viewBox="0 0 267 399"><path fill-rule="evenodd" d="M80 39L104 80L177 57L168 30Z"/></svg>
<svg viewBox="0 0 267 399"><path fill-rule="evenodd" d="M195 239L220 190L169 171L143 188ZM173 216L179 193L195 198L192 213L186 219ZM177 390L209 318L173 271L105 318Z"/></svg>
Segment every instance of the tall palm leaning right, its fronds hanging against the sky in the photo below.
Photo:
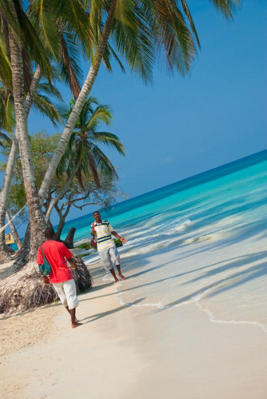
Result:
<svg viewBox="0 0 267 399"><path fill-rule="evenodd" d="M226 18L232 18L232 11L241 4L241 0L211 1ZM177 70L184 75L191 68L196 47L200 46L186 0L110 0L103 3L102 8L99 1L91 0L89 3L90 28L94 39L91 44L95 50L91 55L92 62L88 75L39 190L41 201L64 154L83 104L92 89L110 36L117 51L126 58L131 69L138 72L145 82L152 80L153 65L156 60L162 58L166 59L167 68L171 72Z"/></svg>

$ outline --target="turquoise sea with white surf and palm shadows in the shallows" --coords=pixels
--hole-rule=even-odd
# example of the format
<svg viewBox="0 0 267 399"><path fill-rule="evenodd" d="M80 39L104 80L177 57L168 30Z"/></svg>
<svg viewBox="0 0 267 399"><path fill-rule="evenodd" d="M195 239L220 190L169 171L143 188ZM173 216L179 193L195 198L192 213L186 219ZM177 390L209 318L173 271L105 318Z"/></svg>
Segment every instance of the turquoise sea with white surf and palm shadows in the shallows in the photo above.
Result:
<svg viewBox="0 0 267 399"><path fill-rule="evenodd" d="M158 310L195 302L214 322L267 331L267 150L101 214L128 239L121 302L142 298L137 306ZM86 240L91 221L71 220L64 232L76 227L75 239Z"/></svg>

